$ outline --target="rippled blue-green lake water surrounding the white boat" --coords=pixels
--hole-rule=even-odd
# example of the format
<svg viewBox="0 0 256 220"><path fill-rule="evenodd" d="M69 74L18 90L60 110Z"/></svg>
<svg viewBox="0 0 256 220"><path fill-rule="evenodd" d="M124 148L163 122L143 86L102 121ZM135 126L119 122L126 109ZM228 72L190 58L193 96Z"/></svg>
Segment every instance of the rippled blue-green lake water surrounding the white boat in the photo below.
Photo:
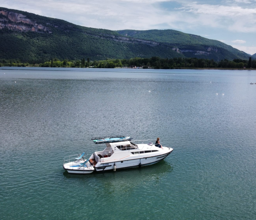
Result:
<svg viewBox="0 0 256 220"><path fill-rule="evenodd" d="M256 71L0 68L0 219L255 219L251 82ZM174 151L142 168L63 169L96 151L92 137L120 134Z"/></svg>

